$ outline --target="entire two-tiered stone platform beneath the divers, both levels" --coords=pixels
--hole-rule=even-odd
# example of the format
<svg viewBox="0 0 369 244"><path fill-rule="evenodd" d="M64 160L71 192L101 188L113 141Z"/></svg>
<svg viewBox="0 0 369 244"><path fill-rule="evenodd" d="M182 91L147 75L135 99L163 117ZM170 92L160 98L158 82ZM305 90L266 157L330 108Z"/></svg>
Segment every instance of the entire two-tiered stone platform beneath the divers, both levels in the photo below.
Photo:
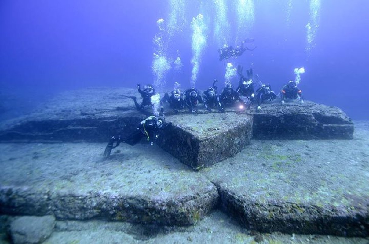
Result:
<svg viewBox="0 0 369 244"><path fill-rule="evenodd" d="M353 137L340 109L312 102L259 113L166 107L156 145L121 144L104 160L109 137L148 115L121 94L136 92L74 91L3 123L0 215L183 226L220 208L249 230L369 235L367 124ZM299 140L278 140L290 135ZM301 140L327 138L353 140Z"/></svg>

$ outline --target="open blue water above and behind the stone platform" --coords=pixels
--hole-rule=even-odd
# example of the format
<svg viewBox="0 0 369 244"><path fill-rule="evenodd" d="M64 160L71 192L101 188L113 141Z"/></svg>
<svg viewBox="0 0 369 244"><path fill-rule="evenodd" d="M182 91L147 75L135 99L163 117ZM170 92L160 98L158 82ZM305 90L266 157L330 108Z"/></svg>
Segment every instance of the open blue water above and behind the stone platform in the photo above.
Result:
<svg viewBox="0 0 369 244"><path fill-rule="evenodd" d="M227 11L216 11L215 2L223 3ZM229 62L244 70L252 67L276 93L295 79L294 68L304 67L299 87L306 100L338 106L353 119L369 119L369 1L246 0L253 4L254 21L241 31L237 2L2 0L1 106L29 108L49 95L75 88L154 83L152 62L158 47L153 39L160 33L165 57L172 64L162 86L173 87L178 81L182 89L189 88L194 56L191 21L202 14L206 43L199 56L197 88L206 89L213 79L224 81L226 64L218 60L218 37L225 36L225 42L234 46L253 37L256 49ZM307 51L311 2L320 6L314 45ZM157 21L163 18L167 25L173 14L170 6L181 3L183 12L177 18L181 30L168 38L168 26L161 32ZM222 16L228 25L218 21ZM223 29L214 35L217 26ZM183 67L177 72L173 60L178 55ZM232 83L237 86L237 78ZM218 86L223 87L223 82Z"/></svg>

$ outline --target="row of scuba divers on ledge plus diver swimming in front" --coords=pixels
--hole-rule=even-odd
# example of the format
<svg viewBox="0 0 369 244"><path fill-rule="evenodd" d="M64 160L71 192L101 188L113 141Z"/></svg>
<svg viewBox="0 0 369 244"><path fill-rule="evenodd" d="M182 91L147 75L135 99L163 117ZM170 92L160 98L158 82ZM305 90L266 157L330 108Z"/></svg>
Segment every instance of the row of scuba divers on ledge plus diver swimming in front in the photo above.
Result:
<svg viewBox="0 0 369 244"><path fill-rule="evenodd" d="M269 84L263 84L256 74L254 76L253 70L246 70L247 76L242 74L242 67L238 66L237 73L240 76L239 84L236 89L231 83L227 83L221 93L218 93L218 87L215 85L217 80L214 80L212 86L210 86L202 94L199 90L192 87L181 93L179 84L175 83L175 88L170 93L165 93L164 97L159 101L160 112L163 113L163 103L168 102L169 107L173 109L175 113L183 109L189 109L191 113L197 113L197 107L199 104L203 104L204 107L211 112L212 109L223 113L225 107L233 107L238 101L240 108L249 109L252 104L256 104L256 112L261 111L261 104L265 101L274 100L277 95L272 91ZM255 78L255 79L254 79ZM259 83L259 88L255 90L256 80ZM152 103L152 97L156 95L155 88L152 85L145 85L141 89L141 85L137 84L137 90L141 94L142 101L139 103L134 96L124 96L131 98L135 107L139 111L143 111L145 106L154 106ZM297 87L295 81L289 81L284 85L280 91L280 98L282 104L286 99L299 99L303 104L302 91ZM113 136L111 137L108 145L106 146L104 157L109 157L111 150L117 147L120 143L127 143L131 146L137 144L142 138L146 138L149 144L153 145L156 138L158 138L158 132L160 129L168 125L164 122L164 117L149 116L137 126L137 129L127 137ZM115 143L115 145L114 145Z"/></svg>

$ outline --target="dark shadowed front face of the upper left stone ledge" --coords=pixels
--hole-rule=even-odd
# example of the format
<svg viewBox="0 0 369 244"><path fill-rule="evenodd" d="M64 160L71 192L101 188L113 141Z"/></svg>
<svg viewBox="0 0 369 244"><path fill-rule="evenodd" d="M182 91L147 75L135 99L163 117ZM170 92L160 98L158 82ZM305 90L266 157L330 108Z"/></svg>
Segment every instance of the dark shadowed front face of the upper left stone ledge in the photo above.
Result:
<svg viewBox="0 0 369 244"><path fill-rule="evenodd" d="M122 118L84 118L28 121L2 132L1 141L12 142L107 142L109 135L128 135L144 119L137 113Z"/></svg>

